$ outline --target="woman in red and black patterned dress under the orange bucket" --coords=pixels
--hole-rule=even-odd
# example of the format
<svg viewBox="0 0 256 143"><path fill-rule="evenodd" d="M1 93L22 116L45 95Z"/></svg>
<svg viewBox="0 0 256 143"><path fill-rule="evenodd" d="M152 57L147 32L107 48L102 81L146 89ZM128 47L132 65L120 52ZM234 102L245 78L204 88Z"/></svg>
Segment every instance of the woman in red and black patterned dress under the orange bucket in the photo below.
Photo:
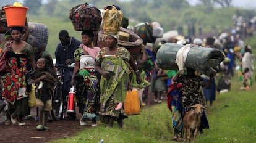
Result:
<svg viewBox="0 0 256 143"><path fill-rule="evenodd" d="M6 54L6 70L1 76L2 97L8 102L8 112L13 124L22 126L22 118L29 114L28 93L31 74L35 69L34 48L22 40L23 27L11 27L11 44L6 44L0 57ZM12 81L12 82L10 82Z"/></svg>

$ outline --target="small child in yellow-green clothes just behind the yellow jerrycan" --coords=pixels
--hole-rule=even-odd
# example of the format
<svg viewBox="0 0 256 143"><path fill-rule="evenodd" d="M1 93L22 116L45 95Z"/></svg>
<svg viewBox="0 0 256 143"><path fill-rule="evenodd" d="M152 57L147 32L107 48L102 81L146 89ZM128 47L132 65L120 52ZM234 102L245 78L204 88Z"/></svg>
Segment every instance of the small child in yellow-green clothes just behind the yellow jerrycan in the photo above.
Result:
<svg viewBox="0 0 256 143"><path fill-rule="evenodd" d="M145 105L145 103L143 103L142 101L142 94L145 88L147 88L147 86L150 86L150 83L146 80L146 73L145 71L142 69L143 68L143 60L137 60L137 68L140 71L140 78L142 78L142 83L138 84L136 81L136 75L135 73L132 76L132 81L131 81L131 86L132 89L137 89L139 92L139 98L140 98L140 105Z"/></svg>

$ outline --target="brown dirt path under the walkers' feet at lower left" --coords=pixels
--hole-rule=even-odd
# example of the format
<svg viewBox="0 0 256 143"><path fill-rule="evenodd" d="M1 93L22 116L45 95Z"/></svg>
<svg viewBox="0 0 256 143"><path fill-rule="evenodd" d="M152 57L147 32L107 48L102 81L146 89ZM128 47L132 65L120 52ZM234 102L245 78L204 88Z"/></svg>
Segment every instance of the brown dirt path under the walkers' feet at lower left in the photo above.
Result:
<svg viewBox="0 0 256 143"><path fill-rule="evenodd" d="M153 102L154 96L152 93L148 94L146 107L155 104ZM165 104L164 102L162 104ZM31 109L31 115L36 116L36 108ZM80 118L80 115L77 115ZM0 142L25 142L25 143L40 143L49 142L53 139L64 139L66 137L74 136L78 131L82 131L90 126L80 126L79 120L59 120L48 123L50 131L36 131L38 121L34 118L25 119L25 126L18 125L4 125L4 117L0 114Z"/></svg>

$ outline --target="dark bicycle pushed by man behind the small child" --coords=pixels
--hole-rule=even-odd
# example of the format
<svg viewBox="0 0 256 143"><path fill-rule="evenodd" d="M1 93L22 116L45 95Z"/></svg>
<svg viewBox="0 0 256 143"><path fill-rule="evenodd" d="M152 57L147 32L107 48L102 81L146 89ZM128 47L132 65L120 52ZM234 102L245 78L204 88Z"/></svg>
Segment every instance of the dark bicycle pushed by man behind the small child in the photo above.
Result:
<svg viewBox="0 0 256 143"><path fill-rule="evenodd" d="M65 113L67 112L67 99L68 94L64 95L64 73L66 70L70 70L75 67L74 63L71 65L56 64L54 67L59 70L56 72L58 81L54 83L53 87L53 99L52 99L52 110L51 116L54 121L62 120L65 118Z"/></svg>

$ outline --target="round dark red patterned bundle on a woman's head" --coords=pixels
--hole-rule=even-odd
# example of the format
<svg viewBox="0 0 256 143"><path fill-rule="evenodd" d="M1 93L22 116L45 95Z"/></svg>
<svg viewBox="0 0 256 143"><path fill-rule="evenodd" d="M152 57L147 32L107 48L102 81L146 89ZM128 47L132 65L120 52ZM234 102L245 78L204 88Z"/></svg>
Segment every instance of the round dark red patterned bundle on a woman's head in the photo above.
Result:
<svg viewBox="0 0 256 143"><path fill-rule="evenodd" d="M98 31L102 20L100 10L87 2L70 9L69 18L76 31Z"/></svg>

